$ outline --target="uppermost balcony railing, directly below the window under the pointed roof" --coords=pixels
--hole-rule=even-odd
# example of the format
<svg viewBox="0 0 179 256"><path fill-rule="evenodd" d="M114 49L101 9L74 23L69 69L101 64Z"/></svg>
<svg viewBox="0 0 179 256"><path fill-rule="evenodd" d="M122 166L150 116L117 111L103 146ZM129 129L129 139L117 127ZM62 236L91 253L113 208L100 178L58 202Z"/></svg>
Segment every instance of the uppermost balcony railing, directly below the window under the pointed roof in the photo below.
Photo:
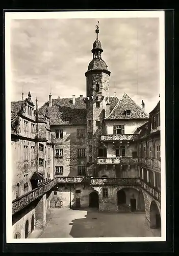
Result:
<svg viewBox="0 0 179 256"><path fill-rule="evenodd" d="M106 134L101 135L101 141L134 141L138 134Z"/></svg>

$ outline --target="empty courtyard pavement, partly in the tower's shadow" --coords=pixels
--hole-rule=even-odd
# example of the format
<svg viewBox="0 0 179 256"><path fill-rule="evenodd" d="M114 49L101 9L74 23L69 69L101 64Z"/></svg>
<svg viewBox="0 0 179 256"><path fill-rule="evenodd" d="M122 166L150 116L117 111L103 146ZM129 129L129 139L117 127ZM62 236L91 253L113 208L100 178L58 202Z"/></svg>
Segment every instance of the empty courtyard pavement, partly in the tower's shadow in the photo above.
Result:
<svg viewBox="0 0 179 256"><path fill-rule="evenodd" d="M48 209L47 213L47 225L36 238L154 237L144 213L95 209Z"/></svg>

